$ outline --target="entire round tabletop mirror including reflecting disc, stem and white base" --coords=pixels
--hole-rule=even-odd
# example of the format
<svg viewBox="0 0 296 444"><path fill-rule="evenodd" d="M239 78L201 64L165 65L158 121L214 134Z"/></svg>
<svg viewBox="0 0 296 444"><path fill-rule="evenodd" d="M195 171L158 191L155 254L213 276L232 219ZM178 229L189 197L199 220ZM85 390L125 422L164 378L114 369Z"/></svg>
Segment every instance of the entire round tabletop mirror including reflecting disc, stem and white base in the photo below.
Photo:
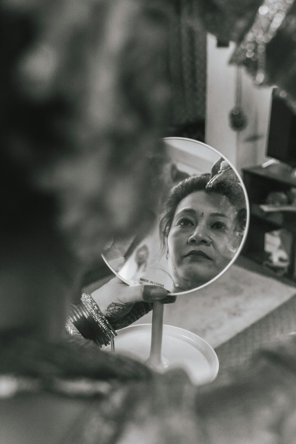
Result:
<svg viewBox="0 0 296 444"><path fill-rule="evenodd" d="M180 303L236 260L248 231L249 202L240 175L219 151L182 137L163 141L167 158L156 223L142 238L114 239L103 258L126 284L161 285ZM219 363L211 345L188 330L163 324L163 311L154 302L152 324L118 330L115 352L160 373L182 368L196 385L213 381Z"/></svg>

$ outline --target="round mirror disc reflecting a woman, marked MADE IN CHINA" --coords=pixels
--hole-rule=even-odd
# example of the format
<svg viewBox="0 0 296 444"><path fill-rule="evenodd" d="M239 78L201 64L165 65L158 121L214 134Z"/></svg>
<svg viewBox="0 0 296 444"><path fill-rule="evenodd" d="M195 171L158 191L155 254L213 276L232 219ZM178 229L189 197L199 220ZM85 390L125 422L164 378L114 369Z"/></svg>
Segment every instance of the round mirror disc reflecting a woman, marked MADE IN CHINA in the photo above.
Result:
<svg viewBox="0 0 296 444"><path fill-rule="evenodd" d="M205 143L163 139L167 159L159 214L146 234L114 239L103 252L127 284L185 294L208 285L240 254L249 226L245 186L234 166Z"/></svg>

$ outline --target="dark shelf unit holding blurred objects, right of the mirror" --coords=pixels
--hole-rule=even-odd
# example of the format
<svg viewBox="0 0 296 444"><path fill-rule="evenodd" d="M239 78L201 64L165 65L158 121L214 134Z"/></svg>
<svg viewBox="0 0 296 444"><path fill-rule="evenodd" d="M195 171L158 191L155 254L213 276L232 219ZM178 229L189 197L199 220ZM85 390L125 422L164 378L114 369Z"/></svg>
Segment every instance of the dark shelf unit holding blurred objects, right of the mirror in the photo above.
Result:
<svg viewBox="0 0 296 444"><path fill-rule="evenodd" d="M245 168L243 180L250 226L242 254L262 265L267 274L296 282L296 177L276 164L270 169Z"/></svg>

